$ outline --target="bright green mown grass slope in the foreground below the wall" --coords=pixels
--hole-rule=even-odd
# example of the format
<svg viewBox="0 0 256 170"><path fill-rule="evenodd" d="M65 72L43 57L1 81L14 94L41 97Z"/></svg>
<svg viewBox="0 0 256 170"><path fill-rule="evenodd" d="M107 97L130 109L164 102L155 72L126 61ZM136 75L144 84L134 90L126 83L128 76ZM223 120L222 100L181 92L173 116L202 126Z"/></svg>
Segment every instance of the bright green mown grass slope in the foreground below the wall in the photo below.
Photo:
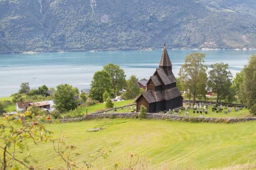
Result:
<svg viewBox="0 0 256 170"><path fill-rule="evenodd" d="M87 132L91 128L103 127L102 131ZM108 159L97 159L93 169L114 169L114 163L129 160L129 153L143 154L148 166L161 166L168 162L178 169L206 169L251 163L256 160L255 122L236 124L210 124L171 122L151 119L96 119L79 123L52 124L47 128L54 131L54 138L62 133L68 144L74 144L75 152L81 155L79 163L88 154L110 147L113 152ZM51 143L35 146L32 155L44 168L62 164L53 151ZM100 168L101 167L101 168ZM170 168L168 167L168 169ZM136 168L135 168L136 169ZM157 167L158 169L158 167Z"/></svg>

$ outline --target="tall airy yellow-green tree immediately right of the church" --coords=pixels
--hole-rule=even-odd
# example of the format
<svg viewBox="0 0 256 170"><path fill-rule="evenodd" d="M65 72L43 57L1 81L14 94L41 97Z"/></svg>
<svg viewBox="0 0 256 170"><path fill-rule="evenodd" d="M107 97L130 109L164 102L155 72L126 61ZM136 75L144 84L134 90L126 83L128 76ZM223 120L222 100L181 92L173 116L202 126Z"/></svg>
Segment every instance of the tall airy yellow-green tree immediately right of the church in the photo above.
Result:
<svg viewBox="0 0 256 170"><path fill-rule="evenodd" d="M180 85L189 91L188 96L193 95L193 103L198 96L206 94L207 67L203 65L205 54L191 53L185 58L179 71Z"/></svg>

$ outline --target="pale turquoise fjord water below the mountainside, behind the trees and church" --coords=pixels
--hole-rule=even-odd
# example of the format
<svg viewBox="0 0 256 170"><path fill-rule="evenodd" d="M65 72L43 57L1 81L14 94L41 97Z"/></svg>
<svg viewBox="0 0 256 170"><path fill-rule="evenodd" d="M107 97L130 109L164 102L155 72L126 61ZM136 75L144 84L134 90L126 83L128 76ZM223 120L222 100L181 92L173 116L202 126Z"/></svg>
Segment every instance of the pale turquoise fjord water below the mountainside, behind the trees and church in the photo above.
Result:
<svg viewBox="0 0 256 170"><path fill-rule="evenodd" d="M173 63L173 72L177 76L185 56L193 50L168 50ZM229 64L233 75L248 62L253 51L218 50L200 51L206 54L205 64L223 62ZM17 92L23 82L29 82L31 88L41 85L56 87L68 83L80 90L89 88L94 72L103 65L120 65L129 78L136 75L139 79L150 78L158 67L162 51L106 51L106 52L64 52L34 54L0 55L0 96L9 96Z"/></svg>

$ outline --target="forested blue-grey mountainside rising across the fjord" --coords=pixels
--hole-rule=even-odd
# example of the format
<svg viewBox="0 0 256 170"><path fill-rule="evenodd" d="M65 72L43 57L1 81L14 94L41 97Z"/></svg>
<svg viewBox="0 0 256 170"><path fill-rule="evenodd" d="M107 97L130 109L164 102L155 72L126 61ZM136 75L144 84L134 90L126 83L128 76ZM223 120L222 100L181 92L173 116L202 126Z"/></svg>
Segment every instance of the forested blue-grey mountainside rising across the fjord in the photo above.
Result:
<svg viewBox="0 0 256 170"><path fill-rule="evenodd" d="M0 53L256 48L254 0L0 0Z"/></svg>

